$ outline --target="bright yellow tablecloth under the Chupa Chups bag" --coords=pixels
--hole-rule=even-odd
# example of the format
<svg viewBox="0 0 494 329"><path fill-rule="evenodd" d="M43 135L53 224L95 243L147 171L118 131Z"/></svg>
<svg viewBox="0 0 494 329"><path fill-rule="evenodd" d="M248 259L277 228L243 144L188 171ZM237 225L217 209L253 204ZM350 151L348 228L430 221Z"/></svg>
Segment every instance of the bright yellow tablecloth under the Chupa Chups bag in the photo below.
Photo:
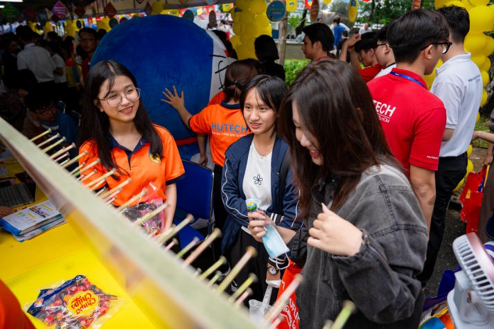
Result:
<svg viewBox="0 0 494 329"><path fill-rule="evenodd" d="M7 168L8 175L22 170L18 163L8 163ZM46 199L40 192L36 193L36 202ZM85 275L103 292L123 299L103 328L155 328L69 224L24 242L17 242L0 229L0 278L24 310L35 301L40 289L60 285L78 274ZM28 317L36 328L46 328L42 321Z"/></svg>

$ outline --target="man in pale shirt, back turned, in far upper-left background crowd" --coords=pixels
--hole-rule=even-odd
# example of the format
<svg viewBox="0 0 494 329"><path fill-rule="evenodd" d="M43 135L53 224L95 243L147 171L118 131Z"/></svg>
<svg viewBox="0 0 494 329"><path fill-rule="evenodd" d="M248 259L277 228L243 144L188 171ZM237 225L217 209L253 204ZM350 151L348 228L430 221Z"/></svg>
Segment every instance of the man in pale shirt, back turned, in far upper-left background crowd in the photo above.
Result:
<svg viewBox="0 0 494 329"><path fill-rule="evenodd" d="M17 54L17 68L32 71L38 82L37 89L51 95L55 87L53 71L56 67L50 53L45 48L35 45L34 32L29 26L21 25L15 32L24 44L24 50Z"/></svg>

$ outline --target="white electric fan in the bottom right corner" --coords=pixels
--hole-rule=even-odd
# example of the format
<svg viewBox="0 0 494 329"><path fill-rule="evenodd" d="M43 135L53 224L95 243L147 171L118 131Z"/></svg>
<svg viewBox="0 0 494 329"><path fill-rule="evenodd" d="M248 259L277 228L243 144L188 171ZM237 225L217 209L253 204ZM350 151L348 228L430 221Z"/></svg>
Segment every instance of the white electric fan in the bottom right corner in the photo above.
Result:
<svg viewBox="0 0 494 329"><path fill-rule="evenodd" d="M457 329L494 328L494 262L475 233L456 238L453 251L461 266L448 294L450 317Z"/></svg>

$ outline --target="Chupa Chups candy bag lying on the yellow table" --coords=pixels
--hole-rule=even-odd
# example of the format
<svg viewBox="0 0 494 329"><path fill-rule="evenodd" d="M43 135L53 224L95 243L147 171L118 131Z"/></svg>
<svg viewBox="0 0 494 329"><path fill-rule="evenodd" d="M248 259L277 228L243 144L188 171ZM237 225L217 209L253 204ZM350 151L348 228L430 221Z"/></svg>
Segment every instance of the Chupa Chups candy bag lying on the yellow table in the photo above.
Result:
<svg viewBox="0 0 494 329"><path fill-rule="evenodd" d="M104 314L116 308L117 296L105 294L85 276L78 275L53 289L39 291L28 313L46 326L62 328L99 328ZM96 322L95 322L96 321Z"/></svg>

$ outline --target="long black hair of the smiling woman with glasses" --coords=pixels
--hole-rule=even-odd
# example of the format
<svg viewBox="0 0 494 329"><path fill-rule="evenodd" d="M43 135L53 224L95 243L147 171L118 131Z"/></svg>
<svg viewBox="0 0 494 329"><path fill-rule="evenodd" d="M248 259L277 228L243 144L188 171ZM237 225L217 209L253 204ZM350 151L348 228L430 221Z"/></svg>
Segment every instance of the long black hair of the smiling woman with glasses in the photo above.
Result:
<svg viewBox="0 0 494 329"><path fill-rule="evenodd" d="M92 140L98 146L98 157L105 168L116 168L121 172L122 168L116 166L112 156L112 142L109 138L109 119L105 112L101 112L98 105L100 88L108 81L108 91L112 89L116 76L126 76L132 80L137 87L136 78L130 71L114 60L96 63L87 75L84 99L82 103L82 118L80 129L80 145L85 141ZM155 157L163 157L163 144L155 127L153 127L148 112L145 111L142 100L139 100L134 125L145 139L150 141L150 154Z"/></svg>

